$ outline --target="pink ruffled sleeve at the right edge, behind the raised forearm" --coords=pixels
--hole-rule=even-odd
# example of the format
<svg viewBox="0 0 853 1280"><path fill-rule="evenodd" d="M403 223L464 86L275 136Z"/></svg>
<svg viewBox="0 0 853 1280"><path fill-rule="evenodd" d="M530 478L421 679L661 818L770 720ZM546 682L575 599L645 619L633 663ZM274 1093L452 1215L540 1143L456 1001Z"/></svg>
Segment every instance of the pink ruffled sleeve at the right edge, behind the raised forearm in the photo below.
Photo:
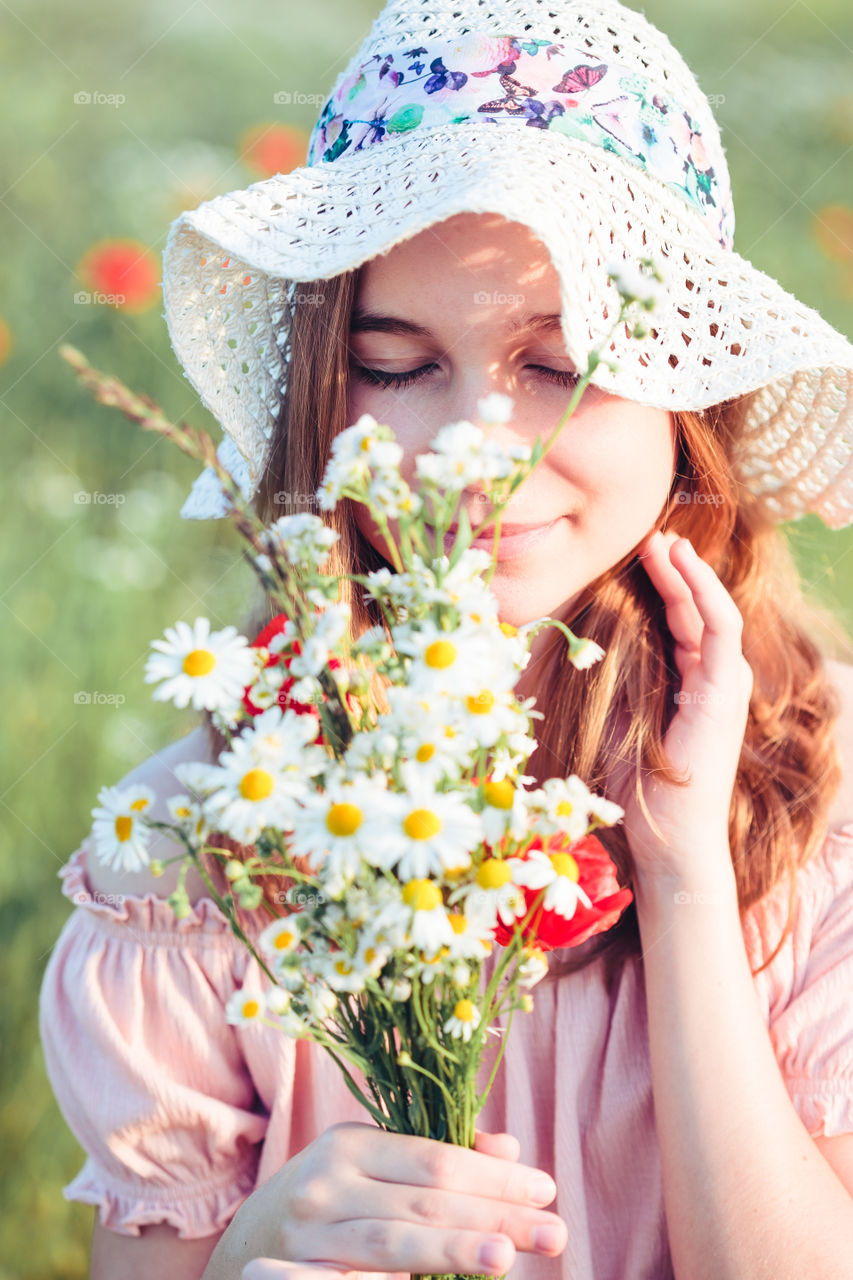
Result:
<svg viewBox="0 0 853 1280"><path fill-rule="evenodd" d="M753 968L776 947L788 882L753 908ZM756 978L788 1092L812 1137L853 1133L853 823L830 832L798 873L792 937Z"/></svg>

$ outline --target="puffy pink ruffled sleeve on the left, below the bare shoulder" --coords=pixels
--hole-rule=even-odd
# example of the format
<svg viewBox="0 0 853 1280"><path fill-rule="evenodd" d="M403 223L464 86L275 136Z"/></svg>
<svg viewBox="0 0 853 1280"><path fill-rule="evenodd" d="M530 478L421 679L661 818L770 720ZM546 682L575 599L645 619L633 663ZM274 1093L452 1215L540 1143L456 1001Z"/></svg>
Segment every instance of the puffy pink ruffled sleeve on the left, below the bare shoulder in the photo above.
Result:
<svg viewBox="0 0 853 1280"><path fill-rule="evenodd" d="M101 1224L182 1239L224 1230L254 1190L269 1115L224 1004L248 952L213 901L92 895L87 841L59 870L76 910L45 969L47 1075L87 1160L63 1188Z"/></svg>

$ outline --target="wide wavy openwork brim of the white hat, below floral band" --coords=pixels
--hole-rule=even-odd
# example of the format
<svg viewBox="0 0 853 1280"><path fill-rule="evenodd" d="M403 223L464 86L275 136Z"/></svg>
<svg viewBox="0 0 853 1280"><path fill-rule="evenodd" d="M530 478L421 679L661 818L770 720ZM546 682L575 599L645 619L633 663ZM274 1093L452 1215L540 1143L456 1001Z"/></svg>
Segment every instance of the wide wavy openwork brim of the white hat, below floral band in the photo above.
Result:
<svg viewBox="0 0 853 1280"><path fill-rule="evenodd" d="M164 251L169 337L237 445L248 486L259 483L280 408L295 285L353 270L471 211L523 223L546 246L579 369L619 315L608 268L635 270L652 257L666 282L652 332L631 338L621 326L593 381L670 411L761 389L744 420L738 477L774 521L811 511L831 529L853 522L853 346L715 242L698 212L640 165L540 129L515 127L511 145L494 142L496 127L479 122L419 131L175 219ZM182 515L201 518L197 511L188 499Z"/></svg>

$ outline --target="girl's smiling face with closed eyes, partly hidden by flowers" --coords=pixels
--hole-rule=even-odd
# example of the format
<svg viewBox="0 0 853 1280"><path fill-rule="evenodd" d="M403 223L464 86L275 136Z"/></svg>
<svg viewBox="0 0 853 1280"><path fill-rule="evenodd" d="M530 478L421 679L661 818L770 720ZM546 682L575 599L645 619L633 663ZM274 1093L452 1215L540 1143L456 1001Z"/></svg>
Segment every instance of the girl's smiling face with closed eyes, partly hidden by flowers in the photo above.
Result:
<svg viewBox="0 0 853 1280"><path fill-rule="evenodd" d="M537 325L533 316L551 320ZM497 214L457 214L365 264L350 361L347 422L361 413L387 422L412 488L415 457L429 452L439 428L460 419L479 425L476 402L492 392L515 402L511 422L484 426L492 438L529 445L547 438L579 372L565 349L560 283L547 250L524 224ZM365 370L394 376L380 380ZM549 527L498 561L489 585L501 621L566 617L580 591L654 526L674 467L666 410L588 387L556 444L503 509L507 534L511 525ZM473 525L482 524L492 509L487 483L466 490L462 506ZM389 559L368 508L355 509L364 536ZM396 522L391 531L398 541Z"/></svg>

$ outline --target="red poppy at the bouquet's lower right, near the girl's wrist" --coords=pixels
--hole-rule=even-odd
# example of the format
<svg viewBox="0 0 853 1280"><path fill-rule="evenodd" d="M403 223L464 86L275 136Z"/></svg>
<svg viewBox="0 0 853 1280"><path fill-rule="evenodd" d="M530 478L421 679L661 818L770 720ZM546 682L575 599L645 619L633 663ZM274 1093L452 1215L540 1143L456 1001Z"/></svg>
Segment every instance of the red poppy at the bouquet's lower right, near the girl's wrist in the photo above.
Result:
<svg viewBox="0 0 853 1280"><path fill-rule="evenodd" d="M543 951L553 951L556 947L575 947L590 938L593 933L603 933L616 924L626 906L633 901L634 895L629 888L620 888L616 879L616 868L602 842L596 836L583 836L574 844L565 835L546 838L543 847L542 837L534 837L530 850L542 849L549 856L562 854L569 856L575 864L573 879L576 879L584 893L592 902L585 906L578 902L571 919L560 915L557 911L546 911L542 906L544 890L524 888L524 897L528 911L537 899L539 906L534 911L530 922L523 931L523 936L535 942ZM523 861L526 860L526 852ZM574 870L576 869L576 874ZM500 920L494 928L494 940L501 946L507 946L512 940L512 929Z"/></svg>

